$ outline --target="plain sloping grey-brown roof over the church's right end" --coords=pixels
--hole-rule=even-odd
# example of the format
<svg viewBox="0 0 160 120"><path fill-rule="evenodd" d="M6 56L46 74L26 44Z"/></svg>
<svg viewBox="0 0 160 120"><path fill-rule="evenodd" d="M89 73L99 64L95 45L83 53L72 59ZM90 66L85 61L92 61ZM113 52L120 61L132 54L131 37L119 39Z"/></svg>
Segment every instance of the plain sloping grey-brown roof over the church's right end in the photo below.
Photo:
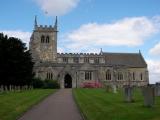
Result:
<svg viewBox="0 0 160 120"><path fill-rule="evenodd" d="M141 53L104 53L106 64L124 65L127 67L147 67Z"/></svg>

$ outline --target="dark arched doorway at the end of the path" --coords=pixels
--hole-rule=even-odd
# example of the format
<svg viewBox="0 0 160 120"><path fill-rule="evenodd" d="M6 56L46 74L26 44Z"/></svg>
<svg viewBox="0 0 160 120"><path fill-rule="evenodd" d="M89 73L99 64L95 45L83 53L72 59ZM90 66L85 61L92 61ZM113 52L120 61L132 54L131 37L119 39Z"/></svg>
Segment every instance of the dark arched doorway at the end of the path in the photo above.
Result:
<svg viewBox="0 0 160 120"><path fill-rule="evenodd" d="M72 77L69 74L64 77L64 88L72 88Z"/></svg>

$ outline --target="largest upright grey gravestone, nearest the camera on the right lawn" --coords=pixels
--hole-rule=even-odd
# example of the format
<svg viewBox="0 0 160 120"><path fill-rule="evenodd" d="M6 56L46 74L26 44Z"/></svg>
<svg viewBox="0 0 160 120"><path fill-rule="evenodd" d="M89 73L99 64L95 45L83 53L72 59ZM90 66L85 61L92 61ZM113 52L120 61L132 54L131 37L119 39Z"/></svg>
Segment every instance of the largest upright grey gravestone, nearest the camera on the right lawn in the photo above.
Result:
<svg viewBox="0 0 160 120"><path fill-rule="evenodd" d="M153 86L143 87L144 106L153 107L155 101L155 88Z"/></svg>

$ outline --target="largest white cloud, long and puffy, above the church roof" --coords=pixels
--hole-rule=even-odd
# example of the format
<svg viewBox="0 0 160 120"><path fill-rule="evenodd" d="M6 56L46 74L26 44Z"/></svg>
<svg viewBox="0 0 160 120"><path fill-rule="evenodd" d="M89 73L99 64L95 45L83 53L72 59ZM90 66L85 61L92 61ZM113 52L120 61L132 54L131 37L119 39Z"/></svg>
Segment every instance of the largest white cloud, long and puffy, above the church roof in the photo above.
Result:
<svg viewBox="0 0 160 120"><path fill-rule="evenodd" d="M70 48L89 46L139 46L158 32L158 18L132 17L113 23L88 23L66 35ZM88 48L89 49L89 48Z"/></svg>

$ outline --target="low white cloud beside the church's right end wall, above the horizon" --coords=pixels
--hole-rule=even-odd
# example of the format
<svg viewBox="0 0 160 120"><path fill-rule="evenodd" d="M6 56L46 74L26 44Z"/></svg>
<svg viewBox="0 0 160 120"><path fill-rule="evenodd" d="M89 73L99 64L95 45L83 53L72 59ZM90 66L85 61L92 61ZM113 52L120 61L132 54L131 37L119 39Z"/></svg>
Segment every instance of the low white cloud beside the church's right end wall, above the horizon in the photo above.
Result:
<svg viewBox="0 0 160 120"><path fill-rule="evenodd" d="M147 60L149 69L149 80L150 83L160 81L160 61L158 60Z"/></svg>

